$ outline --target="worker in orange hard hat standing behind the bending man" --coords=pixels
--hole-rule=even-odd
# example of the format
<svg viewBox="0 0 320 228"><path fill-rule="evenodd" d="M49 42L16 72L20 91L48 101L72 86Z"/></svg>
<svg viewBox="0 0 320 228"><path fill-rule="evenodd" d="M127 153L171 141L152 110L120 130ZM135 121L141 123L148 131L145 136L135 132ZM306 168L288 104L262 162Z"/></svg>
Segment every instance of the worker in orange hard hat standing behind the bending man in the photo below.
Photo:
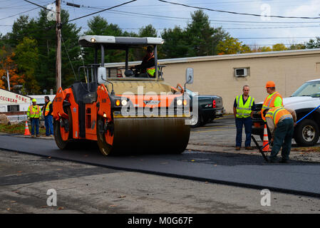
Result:
<svg viewBox="0 0 320 228"><path fill-rule="evenodd" d="M261 117L264 122L266 121L263 115L264 110L284 106L282 95L280 95L280 93L276 91L276 84L274 83L274 81L268 81L266 83L266 89L269 95L264 99L264 103L261 109Z"/></svg>

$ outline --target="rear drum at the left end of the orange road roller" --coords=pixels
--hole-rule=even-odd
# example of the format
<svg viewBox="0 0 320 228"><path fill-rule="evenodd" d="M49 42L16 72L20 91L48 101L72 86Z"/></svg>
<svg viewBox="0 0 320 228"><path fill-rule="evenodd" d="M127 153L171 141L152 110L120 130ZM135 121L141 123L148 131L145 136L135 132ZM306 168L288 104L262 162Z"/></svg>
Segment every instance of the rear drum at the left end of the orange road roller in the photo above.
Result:
<svg viewBox="0 0 320 228"><path fill-rule="evenodd" d="M63 124L68 124L68 132L66 132L66 128L62 126L62 120L53 120L53 133L54 140L56 141L56 145L61 149L68 149L70 147L70 140L72 139L72 114L71 109L68 107L67 109L68 120L64 120Z"/></svg>

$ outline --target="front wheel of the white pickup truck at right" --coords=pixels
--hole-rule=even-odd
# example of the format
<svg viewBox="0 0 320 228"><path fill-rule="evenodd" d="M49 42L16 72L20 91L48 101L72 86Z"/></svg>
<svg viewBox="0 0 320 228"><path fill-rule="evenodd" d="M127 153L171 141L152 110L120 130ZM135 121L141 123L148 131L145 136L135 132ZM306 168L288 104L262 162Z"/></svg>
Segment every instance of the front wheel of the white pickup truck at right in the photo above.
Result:
<svg viewBox="0 0 320 228"><path fill-rule="evenodd" d="M294 140L300 146L312 146L319 140L319 127L314 120L302 120L294 130Z"/></svg>

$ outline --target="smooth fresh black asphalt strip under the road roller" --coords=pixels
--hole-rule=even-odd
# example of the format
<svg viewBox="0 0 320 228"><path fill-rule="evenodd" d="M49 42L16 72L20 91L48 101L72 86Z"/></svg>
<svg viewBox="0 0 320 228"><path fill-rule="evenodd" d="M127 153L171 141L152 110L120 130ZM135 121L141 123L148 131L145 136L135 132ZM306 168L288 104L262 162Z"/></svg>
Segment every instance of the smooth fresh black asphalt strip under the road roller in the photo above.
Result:
<svg viewBox="0 0 320 228"><path fill-rule="evenodd" d="M4 150L72 160L115 170L320 197L319 163L292 161L286 165L268 164L257 155L197 151L185 151L181 155L103 157L94 143L78 143L78 148L74 150L61 151L53 140L9 135L0 135L0 147Z"/></svg>

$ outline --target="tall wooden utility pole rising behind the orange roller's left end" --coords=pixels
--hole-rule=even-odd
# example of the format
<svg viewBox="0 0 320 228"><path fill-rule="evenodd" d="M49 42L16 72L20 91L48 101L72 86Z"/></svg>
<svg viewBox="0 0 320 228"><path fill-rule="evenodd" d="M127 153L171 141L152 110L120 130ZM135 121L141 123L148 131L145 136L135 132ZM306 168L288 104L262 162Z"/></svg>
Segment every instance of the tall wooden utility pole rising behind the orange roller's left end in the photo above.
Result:
<svg viewBox="0 0 320 228"><path fill-rule="evenodd" d="M56 0L56 92L61 88L61 0Z"/></svg>

